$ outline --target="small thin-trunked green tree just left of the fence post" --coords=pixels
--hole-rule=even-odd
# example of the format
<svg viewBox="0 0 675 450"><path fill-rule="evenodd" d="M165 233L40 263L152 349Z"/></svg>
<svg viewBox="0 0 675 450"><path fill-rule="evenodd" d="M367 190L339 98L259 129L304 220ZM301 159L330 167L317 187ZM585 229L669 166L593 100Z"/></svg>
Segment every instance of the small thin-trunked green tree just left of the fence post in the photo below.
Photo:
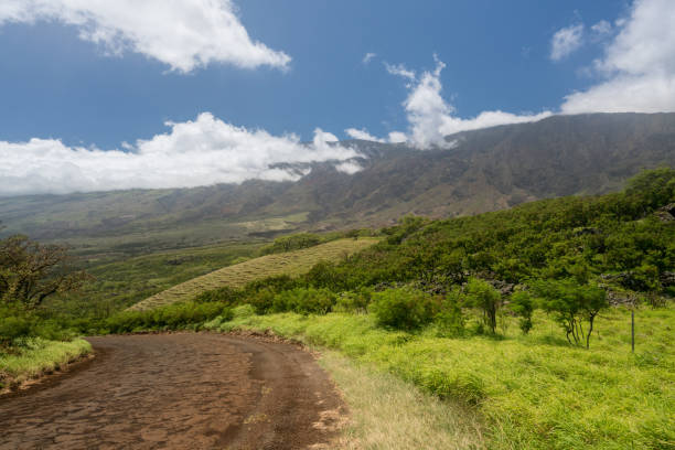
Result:
<svg viewBox="0 0 675 450"><path fill-rule="evenodd" d="M532 288L539 298L542 309L555 314L566 332L567 341L579 344L586 340L588 349L596 317L609 307L604 289L580 286L574 280L537 281ZM585 323L588 323L587 330Z"/></svg>

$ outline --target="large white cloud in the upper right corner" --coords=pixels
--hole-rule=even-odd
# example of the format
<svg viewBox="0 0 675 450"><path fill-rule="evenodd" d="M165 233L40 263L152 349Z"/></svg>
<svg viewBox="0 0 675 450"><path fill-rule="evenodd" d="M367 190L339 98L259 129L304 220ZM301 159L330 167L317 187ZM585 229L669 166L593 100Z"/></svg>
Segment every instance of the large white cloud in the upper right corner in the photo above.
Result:
<svg viewBox="0 0 675 450"><path fill-rule="evenodd" d="M596 72L603 77L565 98L565 114L675 110L675 2L635 0Z"/></svg>

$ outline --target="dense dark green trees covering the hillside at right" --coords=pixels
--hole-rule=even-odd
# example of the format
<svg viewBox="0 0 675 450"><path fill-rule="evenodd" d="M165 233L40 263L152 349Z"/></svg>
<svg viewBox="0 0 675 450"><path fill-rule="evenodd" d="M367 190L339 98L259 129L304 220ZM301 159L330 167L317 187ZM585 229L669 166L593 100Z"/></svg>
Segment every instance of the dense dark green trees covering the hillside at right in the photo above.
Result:
<svg viewBox="0 0 675 450"><path fill-rule="evenodd" d="M315 267L308 281L333 290L383 282L459 285L471 276L511 283L574 278L586 285L628 274L612 282L639 292L673 292L660 280L675 267L675 226L654 212L675 202L674 173L644 172L619 194L544 200L446 221L406 217L382 231L385 240Z"/></svg>

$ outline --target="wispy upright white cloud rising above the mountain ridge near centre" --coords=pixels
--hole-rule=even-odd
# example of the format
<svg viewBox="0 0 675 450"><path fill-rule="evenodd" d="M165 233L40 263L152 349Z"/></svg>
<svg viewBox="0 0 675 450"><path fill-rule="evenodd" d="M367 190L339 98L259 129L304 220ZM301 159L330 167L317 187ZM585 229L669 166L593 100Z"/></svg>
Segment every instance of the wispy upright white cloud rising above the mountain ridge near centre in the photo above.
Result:
<svg viewBox="0 0 675 450"><path fill-rule="evenodd" d="M389 142L409 142L419 149L436 146L452 148L456 142L446 141L446 136L459 131L475 130L480 128L494 127L506 124L522 124L540 120L551 115L550 111L540 114L516 115L501 110L483 111L473 118L460 118L456 115L456 108L442 96L441 72L446 64L436 60L432 71L425 71L417 75L414 71L398 67L389 73L409 81L407 84L408 96L403 103L408 120L408 131L393 131L389 133Z"/></svg>

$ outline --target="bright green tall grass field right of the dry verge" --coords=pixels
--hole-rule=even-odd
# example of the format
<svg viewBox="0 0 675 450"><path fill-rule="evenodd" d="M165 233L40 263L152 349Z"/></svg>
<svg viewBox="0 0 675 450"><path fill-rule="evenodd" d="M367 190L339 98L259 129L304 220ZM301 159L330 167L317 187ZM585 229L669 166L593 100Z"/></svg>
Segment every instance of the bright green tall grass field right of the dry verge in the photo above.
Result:
<svg viewBox="0 0 675 450"><path fill-rule="evenodd" d="M543 314L531 335L515 323L501 339L442 339L387 331L369 315L235 315L250 328L339 350L422 390L471 405L490 449L672 449L675 447L675 308L598 319L591 349L568 345ZM217 324L217 321L214 323Z"/></svg>

